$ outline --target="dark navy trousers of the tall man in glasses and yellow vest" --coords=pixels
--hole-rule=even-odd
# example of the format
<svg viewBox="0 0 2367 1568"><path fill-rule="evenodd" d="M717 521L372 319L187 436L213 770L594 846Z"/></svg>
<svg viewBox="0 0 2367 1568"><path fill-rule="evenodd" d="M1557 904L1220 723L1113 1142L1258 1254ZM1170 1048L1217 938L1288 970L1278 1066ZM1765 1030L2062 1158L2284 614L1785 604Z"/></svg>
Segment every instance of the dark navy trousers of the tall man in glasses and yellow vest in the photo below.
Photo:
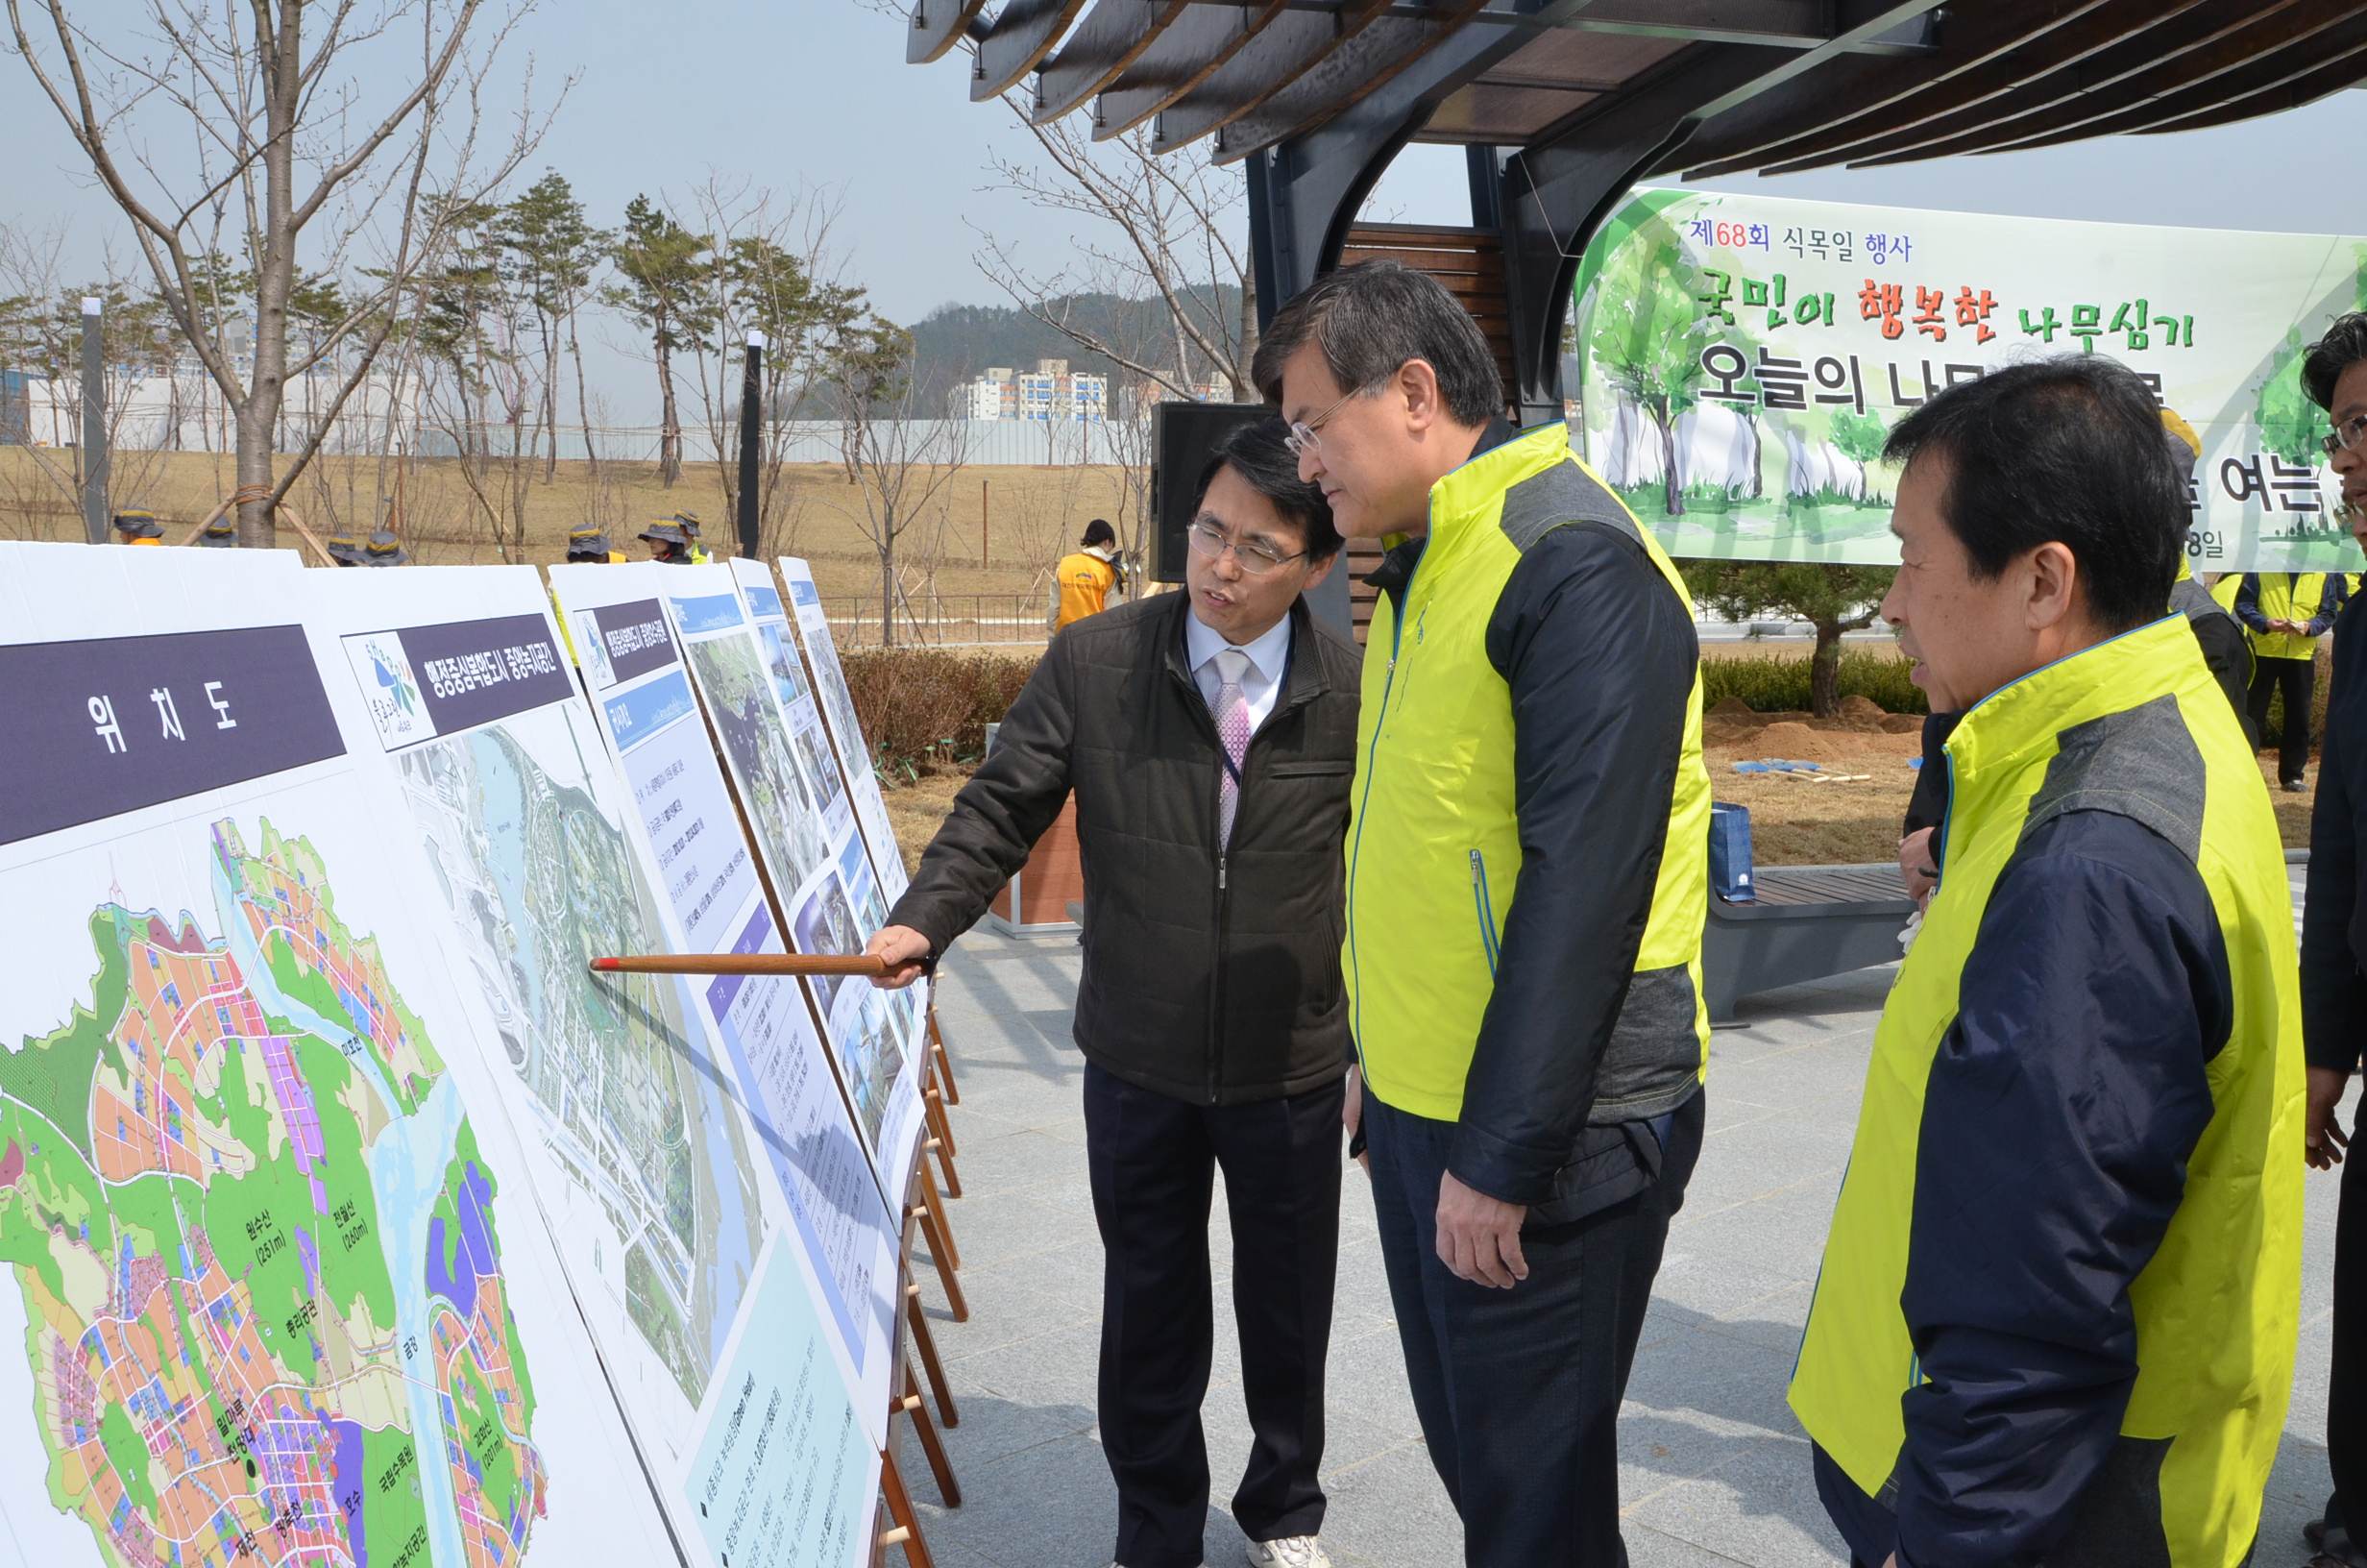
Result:
<svg viewBox="0 0 2367 1568"><path fill-rule="evenodd" d="M1510 1291L1456 1279L1437 1251L1456 1125L1363 1097L1380 1255L1430 1464L1472 1568L1621 1568L1619 1400L1669 1217L1702 1151L1702 1097L1669 1118L1657 1180L1569 1225L1529 1225Z"/></svg>

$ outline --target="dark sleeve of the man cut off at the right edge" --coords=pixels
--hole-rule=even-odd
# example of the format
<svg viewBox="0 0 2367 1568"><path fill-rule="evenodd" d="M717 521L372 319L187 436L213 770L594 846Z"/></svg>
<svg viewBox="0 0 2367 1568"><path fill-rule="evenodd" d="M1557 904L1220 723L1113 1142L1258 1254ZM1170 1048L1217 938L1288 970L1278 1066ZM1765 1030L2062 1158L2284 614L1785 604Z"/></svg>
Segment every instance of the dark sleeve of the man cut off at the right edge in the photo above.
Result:
<svg viewBox="0 0 2367 1568"><path fill-rule="evenodd" d="M2362 599L2367 604L2367 599ZM2353 931L2360 926L2360 831L2350 801L2353 706L2367 621L2346 611L2350 630L2334 637L2334 685L2327 692L2327 737L2317 756L2317 801L2310 805L2310 886L2301 900L2301 1035L2313 1068L2355 1073L2367 1040L2367 976L2360 973Z"/></svg>

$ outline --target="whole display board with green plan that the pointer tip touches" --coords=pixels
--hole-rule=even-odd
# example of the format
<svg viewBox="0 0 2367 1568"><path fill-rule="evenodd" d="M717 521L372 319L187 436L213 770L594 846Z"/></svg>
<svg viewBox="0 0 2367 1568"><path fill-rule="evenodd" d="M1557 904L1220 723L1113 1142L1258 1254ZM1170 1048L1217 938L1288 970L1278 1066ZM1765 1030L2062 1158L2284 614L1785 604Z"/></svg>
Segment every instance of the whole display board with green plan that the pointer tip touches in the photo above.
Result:
<svg viewBox="0 0 2367 1568"><path fill-rule="evenodd" d="M450 919L454 985L677 1535L722 1566L734 1521L805 1497L812 1532L788 1561L845 1568L876 1485L883 1421L866 1414L883 1400L862 1362L878 1360L878 1312L831 1310L828 1265L791 1222L701 983L587 969L691 938L540 576L348 573L315 606L355 751L374 751L383 810L412 829L414 895ZM776 1412L755 1447L750 1400Z"/></svg>

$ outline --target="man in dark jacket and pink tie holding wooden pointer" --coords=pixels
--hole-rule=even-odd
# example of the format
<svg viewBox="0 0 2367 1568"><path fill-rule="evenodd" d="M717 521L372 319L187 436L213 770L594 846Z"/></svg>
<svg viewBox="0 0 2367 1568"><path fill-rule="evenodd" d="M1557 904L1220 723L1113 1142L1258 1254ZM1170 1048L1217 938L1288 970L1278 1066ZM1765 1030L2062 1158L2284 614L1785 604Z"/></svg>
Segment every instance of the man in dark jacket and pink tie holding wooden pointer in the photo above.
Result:
<svg viewBox="0 0 2367 1568"><path fill-rule="evenodd" d="M1117 1563L1198 1568L1224 1168L1255 1568L1326 1568L1323 1357L1340 1258L1340 846L1361 654L1302 592L1340 554L1281 419L1217 443L1181 595L1051 640L869 952L909 985L1070 791L1084 869L1084 1144L1105 1255L1101 1447Z"/></svg>

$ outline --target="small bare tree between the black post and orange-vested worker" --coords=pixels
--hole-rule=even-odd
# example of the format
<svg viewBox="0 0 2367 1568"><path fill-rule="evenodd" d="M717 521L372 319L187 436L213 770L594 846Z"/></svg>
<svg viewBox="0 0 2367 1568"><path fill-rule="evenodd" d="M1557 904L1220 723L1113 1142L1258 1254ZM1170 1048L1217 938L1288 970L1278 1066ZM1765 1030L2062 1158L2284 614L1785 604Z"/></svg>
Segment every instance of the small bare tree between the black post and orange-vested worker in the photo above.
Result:
<svg viewBox="0 0 2367 1568"><path fill-rule="evenodd" d="M878 315L852 327L833 360L840 452L859 493L850 521L881 557L881 647L895 647L904 599L897 547L930 514L944 531L944 493L968 462L968 419L923 419L942 407L937 388L911 374L911 334Z"/></svg>

